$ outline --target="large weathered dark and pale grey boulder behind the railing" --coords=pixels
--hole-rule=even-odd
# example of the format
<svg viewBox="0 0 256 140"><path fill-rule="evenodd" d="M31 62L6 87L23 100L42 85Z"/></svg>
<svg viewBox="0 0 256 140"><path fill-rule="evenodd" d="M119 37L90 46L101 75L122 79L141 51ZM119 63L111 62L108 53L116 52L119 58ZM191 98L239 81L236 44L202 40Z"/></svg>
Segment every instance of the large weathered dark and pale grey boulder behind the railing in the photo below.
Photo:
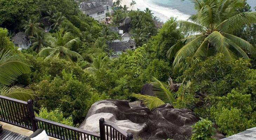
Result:
<svg viewBox="0 0 256 140"><path fill-rule="evenodd" d="M140 136L142 140L187 139L192 134L191 125L199 120L190 110L174 109L170 104L150 111L139 102L102 100L92 105L79 128L99 133L100 118L132 133L135 139Z"/></svg>

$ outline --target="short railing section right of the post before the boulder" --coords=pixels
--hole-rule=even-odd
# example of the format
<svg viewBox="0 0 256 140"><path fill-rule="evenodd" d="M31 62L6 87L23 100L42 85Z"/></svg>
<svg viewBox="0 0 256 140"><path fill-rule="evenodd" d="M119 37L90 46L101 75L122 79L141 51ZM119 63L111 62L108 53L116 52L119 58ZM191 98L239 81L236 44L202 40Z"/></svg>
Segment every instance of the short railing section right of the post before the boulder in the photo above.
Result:
<svg viewBox="0 0 256 140"><path fill-rule="evenodd" d="M101 140L134 140L133 134L127 134L118 126L106 122L104 118L100 118L99 123Z"/></svg>

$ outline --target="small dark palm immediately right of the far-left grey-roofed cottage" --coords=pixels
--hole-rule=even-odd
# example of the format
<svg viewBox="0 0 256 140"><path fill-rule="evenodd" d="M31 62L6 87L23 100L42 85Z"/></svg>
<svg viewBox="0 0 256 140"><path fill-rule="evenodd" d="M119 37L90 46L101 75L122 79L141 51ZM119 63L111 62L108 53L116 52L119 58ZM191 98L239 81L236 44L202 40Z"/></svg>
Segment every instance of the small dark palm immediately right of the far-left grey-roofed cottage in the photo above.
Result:
<svg viewBox="0 0 256 140"><path fill-rule="evenodd" d="M44 48L45 46L47 46L47 43L44 39L45 33L40 30L38 31L38 33L36 34L36 36L29 36L31 42L32 42L32 49L35 52L39 52L40 49Z"/></svg>

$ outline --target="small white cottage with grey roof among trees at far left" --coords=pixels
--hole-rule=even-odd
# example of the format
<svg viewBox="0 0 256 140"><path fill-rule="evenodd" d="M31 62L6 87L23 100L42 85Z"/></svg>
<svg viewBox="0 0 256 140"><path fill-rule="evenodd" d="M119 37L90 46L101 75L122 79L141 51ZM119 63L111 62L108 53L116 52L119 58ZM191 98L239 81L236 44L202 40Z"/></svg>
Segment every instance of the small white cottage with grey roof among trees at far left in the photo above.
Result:
<svg viewBox="0 0 256 140"><path fill-rule="evenodd" d="M28 49L31 46L31 41L28 40L27 36L23 32L15 34L11 40L19 50Z"/></svg>

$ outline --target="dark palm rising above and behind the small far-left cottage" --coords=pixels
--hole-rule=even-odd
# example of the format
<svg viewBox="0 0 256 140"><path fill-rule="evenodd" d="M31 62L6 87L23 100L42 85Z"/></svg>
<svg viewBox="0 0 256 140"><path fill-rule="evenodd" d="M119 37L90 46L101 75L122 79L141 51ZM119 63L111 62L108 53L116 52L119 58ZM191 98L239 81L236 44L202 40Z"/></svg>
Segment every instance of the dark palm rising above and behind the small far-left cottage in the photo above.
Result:
<svg viewBox="0 0 256 140"><path fill-rule="evenodd" d="M43 30L40 26L43 26L42 23L37 22L38 17L35 15L28 15L28 21L23 21L24 25L22 26L25 28L25 34L27 36L35 36L38 30Z"/></svg>

